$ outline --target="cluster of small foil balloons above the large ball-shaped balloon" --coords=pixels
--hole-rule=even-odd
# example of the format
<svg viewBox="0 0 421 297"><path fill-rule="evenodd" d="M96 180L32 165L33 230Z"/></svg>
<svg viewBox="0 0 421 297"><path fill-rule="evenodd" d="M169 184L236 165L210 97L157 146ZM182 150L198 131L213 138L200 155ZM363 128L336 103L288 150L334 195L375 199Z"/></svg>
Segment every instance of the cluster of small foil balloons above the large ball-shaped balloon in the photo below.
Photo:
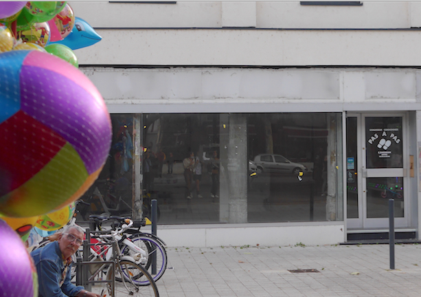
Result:
<svg viewBox="0 0 421 297"><path fill-rule="evenodd" d="M0 53L38 50L78 67L72 50L101 39L66 1L0 1Z"/></svg>

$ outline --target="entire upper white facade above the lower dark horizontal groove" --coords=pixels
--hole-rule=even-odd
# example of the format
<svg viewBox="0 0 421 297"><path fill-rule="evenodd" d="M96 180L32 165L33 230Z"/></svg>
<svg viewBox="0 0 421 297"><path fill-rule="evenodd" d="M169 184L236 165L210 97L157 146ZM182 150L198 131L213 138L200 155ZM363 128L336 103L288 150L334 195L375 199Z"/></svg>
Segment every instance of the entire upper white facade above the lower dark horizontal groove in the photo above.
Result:
<svg viewBox="0 0 421 297"><path fill-rule="evenodd" d="M69 3L103 38L80 65L421 66L418 1Z"/></svg>

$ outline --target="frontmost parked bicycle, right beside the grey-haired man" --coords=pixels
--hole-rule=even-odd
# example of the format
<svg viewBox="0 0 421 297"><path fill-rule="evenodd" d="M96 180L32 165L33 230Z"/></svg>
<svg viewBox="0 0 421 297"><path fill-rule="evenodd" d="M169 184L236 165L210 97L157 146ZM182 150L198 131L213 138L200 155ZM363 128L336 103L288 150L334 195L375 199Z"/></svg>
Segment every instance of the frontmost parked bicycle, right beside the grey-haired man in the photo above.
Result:
<svg viewBox="0 0 421 297"><path fill-rule="evenodd" d="M137 265L128 256L124 256L120 250L120 246L118 244L119 237L126 228L130 228L130 225L133 225L133 221L127 219L126 223L128 224L122 225L120 230L109 230L109 234L93 234L93 237L100 239L101 244L105 244L106 248L98 254L97 258L91 259L89 262L95 263L94 261L97 259L101 259L101 261L104 261L102 259L105 259L106 263L100 265L100 267L91 274L87 281L93 283L103 283L102 279L98 278L100 277L100 274L104 274L106 276L106 287L104 287L104 285L100 285L100 288L93 289L93 292L95 293L100 292L102 297L106 296L103 294L104 291L109 292L111 297L114 296L115 292L128 294L130 296L159 297L157 285L148 271L146 271L141 265ZM113 262L114 265L109 263L110 261ZM113 270L114 267L115 270L113 273L111 270ZM96 281L95 278L97 278ZM113 283L113 285L110 285L111 283ZM148 286L144 285L145 283L148 283Z"/></svg>

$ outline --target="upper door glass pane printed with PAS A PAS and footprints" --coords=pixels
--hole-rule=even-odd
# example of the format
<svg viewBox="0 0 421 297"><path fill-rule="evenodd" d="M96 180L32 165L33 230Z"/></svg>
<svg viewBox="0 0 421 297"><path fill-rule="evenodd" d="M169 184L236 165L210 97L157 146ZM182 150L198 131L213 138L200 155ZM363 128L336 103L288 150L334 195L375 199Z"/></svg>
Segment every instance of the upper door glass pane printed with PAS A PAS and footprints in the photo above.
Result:
<svg viewBox="0 0 421 297"><path fill-rule="evenodd" d="M365 118L367 168L402 168L402 117Z"/></svg>

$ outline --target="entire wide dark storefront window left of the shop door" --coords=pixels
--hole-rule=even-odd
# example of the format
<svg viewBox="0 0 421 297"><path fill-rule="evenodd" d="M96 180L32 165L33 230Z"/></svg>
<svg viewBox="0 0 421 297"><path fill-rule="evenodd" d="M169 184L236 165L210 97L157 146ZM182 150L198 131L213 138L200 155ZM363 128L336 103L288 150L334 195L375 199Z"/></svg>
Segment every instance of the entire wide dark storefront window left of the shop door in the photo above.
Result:
<svg viewBox="0 0 421 297"><path fill-rule="evenodd" d="M343 219L339 113L112 114L82 215L160 224Z"/></svg>

